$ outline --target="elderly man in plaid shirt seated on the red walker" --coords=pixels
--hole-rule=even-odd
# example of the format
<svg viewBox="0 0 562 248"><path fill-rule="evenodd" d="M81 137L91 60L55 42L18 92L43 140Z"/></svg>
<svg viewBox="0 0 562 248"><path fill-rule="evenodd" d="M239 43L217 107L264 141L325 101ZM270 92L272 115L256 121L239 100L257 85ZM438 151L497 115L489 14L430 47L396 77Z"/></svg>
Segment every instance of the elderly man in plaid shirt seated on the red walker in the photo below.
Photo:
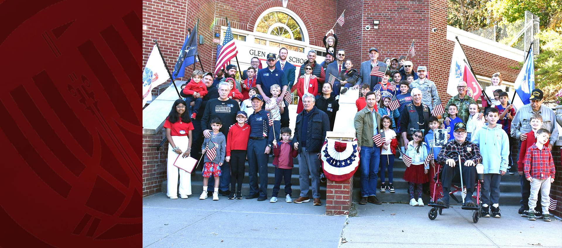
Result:
<svg viewBox="0 0 562 248"><path fill-rule="evenodd" d="M455 139L447 142L441 148L436 158L437 162L444 165L441 175L443 198L438 199L436 203L438 205L445 205L447 208L449 207L449 188L455 175L460 174L460 155L460 164L463 165L461 176L466 185L464 206L476 207L476 203L472 200L472 194L476 182L476 165L482 162L482 156L480 155L478 145L466 140L466 124L462 122L456 123L453 135Z"/></svg>

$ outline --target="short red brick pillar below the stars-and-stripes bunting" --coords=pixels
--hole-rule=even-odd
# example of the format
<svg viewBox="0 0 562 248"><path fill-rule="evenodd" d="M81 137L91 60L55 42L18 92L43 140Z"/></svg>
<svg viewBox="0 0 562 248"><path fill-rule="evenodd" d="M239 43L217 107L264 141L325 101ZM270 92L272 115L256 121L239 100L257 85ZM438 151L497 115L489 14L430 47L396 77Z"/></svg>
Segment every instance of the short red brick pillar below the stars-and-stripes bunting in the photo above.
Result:
<svg viewBox="0 0 562 248"><path fill-rule="evenodd" d="M326 214L347 215L351 208L351 193L353 190L353 176L350 180L334 182L328 180L326 184Z"/></svg>

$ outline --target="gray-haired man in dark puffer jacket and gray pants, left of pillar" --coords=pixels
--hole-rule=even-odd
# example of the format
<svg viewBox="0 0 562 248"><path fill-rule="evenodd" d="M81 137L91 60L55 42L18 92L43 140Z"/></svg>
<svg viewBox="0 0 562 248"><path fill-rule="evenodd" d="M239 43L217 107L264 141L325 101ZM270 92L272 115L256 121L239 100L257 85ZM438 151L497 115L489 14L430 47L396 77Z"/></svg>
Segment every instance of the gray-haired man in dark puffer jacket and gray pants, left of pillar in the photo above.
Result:
<svg viewBox="0 0 562 248"><path fill-rule="evenodd" d="M301 195L295 203L309 202L309 174L312 177L312 197L314 205L320 202L320 149L324 144L326 132L330 130L330 120L324 111L314 106L316 98L311 93L302 96L305 110L297 115L294 125L293 148L298 151L298 183Z"/></svg>

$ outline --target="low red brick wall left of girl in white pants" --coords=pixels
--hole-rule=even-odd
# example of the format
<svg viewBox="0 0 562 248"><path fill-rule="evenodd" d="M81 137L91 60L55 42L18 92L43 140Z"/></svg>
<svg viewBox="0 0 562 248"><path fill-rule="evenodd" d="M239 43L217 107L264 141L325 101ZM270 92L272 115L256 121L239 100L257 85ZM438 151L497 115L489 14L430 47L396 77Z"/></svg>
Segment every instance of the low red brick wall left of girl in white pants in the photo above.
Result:
<svg viewBox="0 0 562 248"><path fill-rule="evenodd" d="M160 130L157 134L143 134L142 145L142 186L143 196L160 192L160 185L166 180L166 167L168 156L168 142L166 141L160 147L160 151L156 151L162 139L166 137L166 131Z"/></svg>

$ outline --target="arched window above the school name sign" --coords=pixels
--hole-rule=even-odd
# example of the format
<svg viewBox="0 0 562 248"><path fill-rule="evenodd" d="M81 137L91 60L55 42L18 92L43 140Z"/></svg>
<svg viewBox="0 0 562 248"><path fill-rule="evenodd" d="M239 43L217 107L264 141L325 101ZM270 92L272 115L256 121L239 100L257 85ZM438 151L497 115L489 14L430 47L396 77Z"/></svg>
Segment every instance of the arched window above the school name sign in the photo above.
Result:
<svg viewBox="0 0 562 248"><path fill-rule="evenodd" d="M256 31L282 38L305 41L301 26L293 17L284 12L273 11L265 14L258 22Z"/></svg>

